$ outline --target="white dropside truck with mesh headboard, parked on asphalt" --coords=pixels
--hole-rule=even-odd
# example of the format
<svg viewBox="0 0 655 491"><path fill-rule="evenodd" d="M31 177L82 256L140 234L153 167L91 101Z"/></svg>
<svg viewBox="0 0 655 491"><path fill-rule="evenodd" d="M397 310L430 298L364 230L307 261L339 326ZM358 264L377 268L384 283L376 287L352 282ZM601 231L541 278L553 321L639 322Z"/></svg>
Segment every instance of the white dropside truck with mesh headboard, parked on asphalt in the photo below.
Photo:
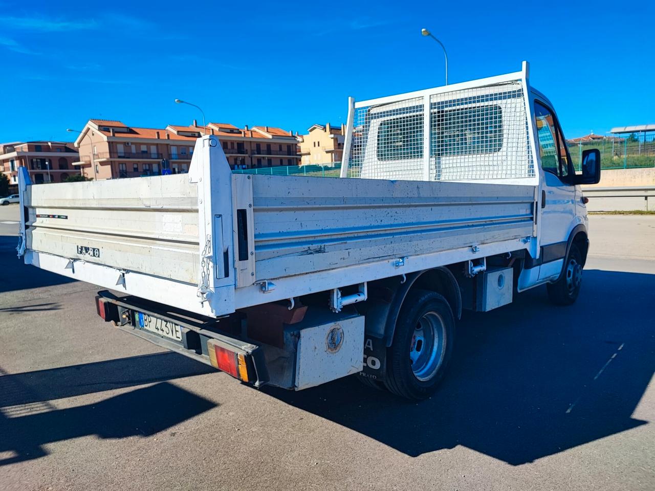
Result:
<svg viewBox="0 0 655 491"><path fill-rule="evenodd" d="M582 172L521 71L355 102L341 178L231 172L215 136L188 175L31 185L26 264L112 291L119 329L259 387L358 374L410 399L443 378L462 309L548 285L578 297Z"/></svg>

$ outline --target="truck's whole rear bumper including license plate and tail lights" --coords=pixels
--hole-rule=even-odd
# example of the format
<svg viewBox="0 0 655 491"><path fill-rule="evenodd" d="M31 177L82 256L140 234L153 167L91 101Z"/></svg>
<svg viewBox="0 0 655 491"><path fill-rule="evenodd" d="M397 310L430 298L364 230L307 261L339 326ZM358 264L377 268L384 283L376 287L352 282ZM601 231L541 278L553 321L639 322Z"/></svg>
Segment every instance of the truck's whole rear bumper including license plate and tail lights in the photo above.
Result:
<svg viewBox="0 0 655 491"><path fill-rule="evenodd" d="M96 310L122 331L211 365L242 382L255 387L269 382L262 347L242 339L244 335L235 337L221 329L225 326L244 334L245 325L238 316L215 319L131 295L119 297L107 290L98 292Z"/></svg>

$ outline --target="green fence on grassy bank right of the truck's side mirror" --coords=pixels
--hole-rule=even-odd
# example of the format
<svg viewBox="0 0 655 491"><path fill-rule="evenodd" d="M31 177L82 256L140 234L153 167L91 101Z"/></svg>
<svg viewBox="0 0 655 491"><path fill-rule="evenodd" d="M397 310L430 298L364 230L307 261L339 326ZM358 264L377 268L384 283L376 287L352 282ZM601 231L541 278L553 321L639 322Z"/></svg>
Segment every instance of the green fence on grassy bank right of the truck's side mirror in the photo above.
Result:
<svg viewBox="0 0 655 491"><path fill-rule="evenodd" d="M576 170L580 170L582 152L587 149L598 149L601 152L603 169L655 167L655 134L633 134L569 143L569 153Z"/></svg>

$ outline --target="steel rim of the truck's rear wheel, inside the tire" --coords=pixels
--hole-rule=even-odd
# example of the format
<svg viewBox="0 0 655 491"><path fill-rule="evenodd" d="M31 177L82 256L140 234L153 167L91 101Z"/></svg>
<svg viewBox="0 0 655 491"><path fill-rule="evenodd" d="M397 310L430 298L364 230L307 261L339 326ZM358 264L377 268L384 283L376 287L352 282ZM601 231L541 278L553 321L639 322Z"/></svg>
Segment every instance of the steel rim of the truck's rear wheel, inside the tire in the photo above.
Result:
<svg viewBox="0 0 655 491"><path fill-rule="evenodd" d="M438 312L421 316L409 345L409 363L414 376L426 382L436 374L445 354L446 329Z"/></svg>

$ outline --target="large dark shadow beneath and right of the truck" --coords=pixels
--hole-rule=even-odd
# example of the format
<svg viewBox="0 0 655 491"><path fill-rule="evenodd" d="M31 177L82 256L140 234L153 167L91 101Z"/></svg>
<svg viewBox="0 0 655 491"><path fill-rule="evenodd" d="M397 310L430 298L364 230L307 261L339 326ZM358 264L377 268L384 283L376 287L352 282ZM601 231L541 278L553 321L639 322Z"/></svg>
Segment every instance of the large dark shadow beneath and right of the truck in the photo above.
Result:
<svg viewBox="0 0 655 491"><path fill-rule="evenodd" d="M421 403L354 377L265 391L409 456L464 445L533 462L646 424L631 415L655 369L654 286L653 275L587 270L574 306L552 306L538 288L465 314L449 374Z"/></svg>

